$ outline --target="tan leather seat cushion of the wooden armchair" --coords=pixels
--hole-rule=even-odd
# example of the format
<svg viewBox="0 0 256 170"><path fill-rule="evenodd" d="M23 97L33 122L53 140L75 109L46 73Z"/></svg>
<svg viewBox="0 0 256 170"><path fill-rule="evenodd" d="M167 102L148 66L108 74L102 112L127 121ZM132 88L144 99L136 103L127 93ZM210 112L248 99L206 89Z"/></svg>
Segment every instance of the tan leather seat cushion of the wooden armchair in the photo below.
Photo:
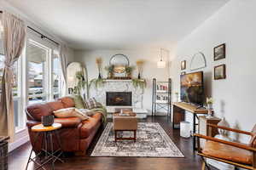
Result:
<svg viewBox="0 0 256 170"><path fill-rule="evenodd" d="M202 153L228 161L236 161L244 164L253 163L252 153L250 151L213 141L206 142Z"/></svg>

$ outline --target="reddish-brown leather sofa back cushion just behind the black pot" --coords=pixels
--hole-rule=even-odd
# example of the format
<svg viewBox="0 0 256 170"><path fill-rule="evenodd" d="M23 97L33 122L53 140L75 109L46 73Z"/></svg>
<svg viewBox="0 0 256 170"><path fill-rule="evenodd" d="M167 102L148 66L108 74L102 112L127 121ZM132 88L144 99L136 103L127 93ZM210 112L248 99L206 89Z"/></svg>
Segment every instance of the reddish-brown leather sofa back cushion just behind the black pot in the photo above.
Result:
<svg viewBox="0 0 256 170"><path fill-rule="evenodd" d="M41 121L42 116L52 115L52 109L45 103L28 105L26 111L32 116L35 121Z"/></svg>

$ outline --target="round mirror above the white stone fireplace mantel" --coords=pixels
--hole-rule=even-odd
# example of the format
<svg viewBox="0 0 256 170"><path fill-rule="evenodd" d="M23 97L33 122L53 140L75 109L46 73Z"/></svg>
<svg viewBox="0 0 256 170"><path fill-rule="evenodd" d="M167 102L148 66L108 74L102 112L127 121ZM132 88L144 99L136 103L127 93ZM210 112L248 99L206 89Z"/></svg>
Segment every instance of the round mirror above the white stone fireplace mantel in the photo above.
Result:
<svg viewBox="0 0 256 170"><path fill-rule="evenodd" d="M113 65L114 73L124 73L125 66L129 66L129 59L124 54L114 54L109 60L109 65Z"/></svg>

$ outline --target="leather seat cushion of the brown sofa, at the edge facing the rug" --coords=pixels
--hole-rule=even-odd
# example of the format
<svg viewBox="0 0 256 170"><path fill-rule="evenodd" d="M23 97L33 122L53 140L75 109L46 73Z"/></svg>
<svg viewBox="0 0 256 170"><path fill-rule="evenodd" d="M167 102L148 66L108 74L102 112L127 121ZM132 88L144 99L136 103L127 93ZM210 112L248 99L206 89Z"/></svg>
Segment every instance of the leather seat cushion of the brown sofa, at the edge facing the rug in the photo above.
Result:
<svg viewBox="0 0 256 170"><path fill-rule="evenodd" d="M80 128L80 139L85 139L97 130L96 127L98 124L102 123L102 113L96 113L94 116L91 116L82 123L83 126Z"/></svg>

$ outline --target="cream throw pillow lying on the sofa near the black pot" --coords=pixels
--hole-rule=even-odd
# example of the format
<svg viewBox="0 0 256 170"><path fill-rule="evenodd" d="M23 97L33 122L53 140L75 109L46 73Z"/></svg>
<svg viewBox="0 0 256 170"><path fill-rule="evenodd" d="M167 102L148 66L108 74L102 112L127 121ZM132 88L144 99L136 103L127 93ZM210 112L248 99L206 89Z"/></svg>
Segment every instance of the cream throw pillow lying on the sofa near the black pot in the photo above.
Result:
<svg viewBox="0 0 256 170"><path fill-rule="evenodd" d="M89 118L89 116L84 116L74 107L54 111L54 114L58 118L79 117L82 121Z"/></svg>

